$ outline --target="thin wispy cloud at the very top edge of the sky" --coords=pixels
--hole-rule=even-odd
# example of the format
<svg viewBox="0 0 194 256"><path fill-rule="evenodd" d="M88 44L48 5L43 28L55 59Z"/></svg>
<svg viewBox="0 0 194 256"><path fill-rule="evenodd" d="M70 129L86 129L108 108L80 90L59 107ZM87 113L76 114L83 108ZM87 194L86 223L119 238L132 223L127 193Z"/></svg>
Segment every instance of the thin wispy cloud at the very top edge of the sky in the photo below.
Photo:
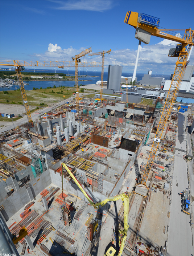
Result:
<svg viewBox="0 0 194 256"><path fill-rule="evenodd" d="M53 1L55 4L60 4L60 7L52 7L58 10L84 10L103 12L112 9L115 3L110 0L81 0L81 1Z"/></svg>

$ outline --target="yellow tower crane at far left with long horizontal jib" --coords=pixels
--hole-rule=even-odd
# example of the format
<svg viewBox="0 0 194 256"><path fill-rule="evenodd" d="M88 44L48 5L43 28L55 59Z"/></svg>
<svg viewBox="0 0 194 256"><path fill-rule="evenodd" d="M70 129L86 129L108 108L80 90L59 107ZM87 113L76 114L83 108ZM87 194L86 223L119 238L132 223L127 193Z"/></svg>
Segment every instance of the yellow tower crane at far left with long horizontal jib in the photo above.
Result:
<svg viewBox="0 0 194 256"><path fill-rule="evenodd" d="M80 62L78 64L79 67L84 67L84 66L94 67L94 66L101 66L101 65L102 64L100 62L83 62L83 63ZM29 109L29 105L28 105L28 101L27 101L27 97L26 97L26 93L25 93L25 89L24 89L24 83L22 81L21 71L25 70L25 68L24 68L25 66L27 66L27 67L34 67L34 66L58 67L58 68L63 69L64 66L75 67L75 62L72 62L72 61L17 61L17 60L13 60L13 61L0 62L0 66L15 66L16 74L18 77L18 83L20 86L21 95L22 95L22 99L24 102L26 115L28 117L28 122L32 122L32 117L30 114L30 109ZM77 84L78 84L78 77L77 77Z"/></svg>

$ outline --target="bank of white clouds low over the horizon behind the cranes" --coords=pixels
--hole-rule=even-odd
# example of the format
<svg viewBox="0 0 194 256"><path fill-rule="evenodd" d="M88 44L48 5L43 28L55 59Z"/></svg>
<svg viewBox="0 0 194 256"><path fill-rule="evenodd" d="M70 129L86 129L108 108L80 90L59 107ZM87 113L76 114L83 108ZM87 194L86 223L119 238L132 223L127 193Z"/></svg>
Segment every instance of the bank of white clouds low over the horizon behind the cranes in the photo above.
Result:
<svg viewBox="0 0 194 256"><path fill-rule="evenodd" d="M170 74L174 72L177 58L168 57L170 48L175 48L176 42L162 40L155 45L141 45L137 73L145 73L148 70L153 70L157 73ZM137 41L138 47L138 41ZM48 50L44 54L35 54L39 60L45 61L72 61L71 57L82 52L87 47L75 49L72 46L70 48L62 49L57 44L49 44ZM95 51L93 51L95 52ZM123 72L133 72L136 61L137 49L120 49L112 50L111 54L105 55L105 66L108 65L121 65L123 66ZM92 56L81 58L83 62L101 62L102 57ZM191 54L189 65L194 65L194 50ZM100 71L101 68L96 68ZM105 69L106 70L106 69ZM107 70L106 70L107 71Z"/></svg>

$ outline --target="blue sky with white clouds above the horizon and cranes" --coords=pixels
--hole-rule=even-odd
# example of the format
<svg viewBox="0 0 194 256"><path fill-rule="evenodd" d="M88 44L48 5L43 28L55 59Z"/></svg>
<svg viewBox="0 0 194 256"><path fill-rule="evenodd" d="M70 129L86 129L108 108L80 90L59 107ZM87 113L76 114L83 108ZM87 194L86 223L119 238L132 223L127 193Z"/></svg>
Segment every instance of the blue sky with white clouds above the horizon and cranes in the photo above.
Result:
<svg viewBox="0 0 194 256"><path fill-rule="evenodd" d="M71 56L92 46L93 52L112 49L105 71L108 64L117 64L133 72L139 41L135 29L124 23L127 11L158 17L162 28L194 29L193 9L194 1L1 0L0 60L71 61ZM172 73L177 58L168 57L168 51L175 45L151 36L149 45L141 44L137 73ZM84 58L91 60L101 57Z"/></svg>

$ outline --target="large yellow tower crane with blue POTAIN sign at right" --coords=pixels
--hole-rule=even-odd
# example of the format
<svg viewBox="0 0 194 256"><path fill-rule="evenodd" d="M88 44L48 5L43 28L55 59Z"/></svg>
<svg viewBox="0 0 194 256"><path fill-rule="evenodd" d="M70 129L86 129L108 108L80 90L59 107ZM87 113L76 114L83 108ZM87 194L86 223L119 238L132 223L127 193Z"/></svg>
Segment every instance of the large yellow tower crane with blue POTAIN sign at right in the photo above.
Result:
<svg viewBox="0 0 194 256"><path fill-rule="evenodd" d="M168 56L170 57L178 57L178 60L176 62L176 68L174 70L172 82L170 84L170 89L168 91L164 108L162 110L160 122L158 123L158 129L156 131L156 135L152 144L152 149L150 150L148 162L146 164L143 177L141 179L141 184L146 186L146 181L148 179L148 175L152 167L152 164L157 152L157 148L162 137L162 133L164 131L169 115L172 111L173 103L176 101L177 94L182 82L182 78L185 74L185 69L188 64L187 58L189 56L191 46L194 45L194 31L191 30L190 28L189 29L158 29L158 26L160 24L160 19L150 15L146 15L144 13L141 13L139 15L139 13L137 12L130 12L130 11L127 12L124 22L136 28L135 37L140 41L143 41L145 44L149 44L151 35L180 43L177 45L176 48L170 49L168 54ZM183 33L183 36L182 38L173 36L172 34L168 34L167 33L168 31L172 31L172 32L181 31Z"/></svg>

